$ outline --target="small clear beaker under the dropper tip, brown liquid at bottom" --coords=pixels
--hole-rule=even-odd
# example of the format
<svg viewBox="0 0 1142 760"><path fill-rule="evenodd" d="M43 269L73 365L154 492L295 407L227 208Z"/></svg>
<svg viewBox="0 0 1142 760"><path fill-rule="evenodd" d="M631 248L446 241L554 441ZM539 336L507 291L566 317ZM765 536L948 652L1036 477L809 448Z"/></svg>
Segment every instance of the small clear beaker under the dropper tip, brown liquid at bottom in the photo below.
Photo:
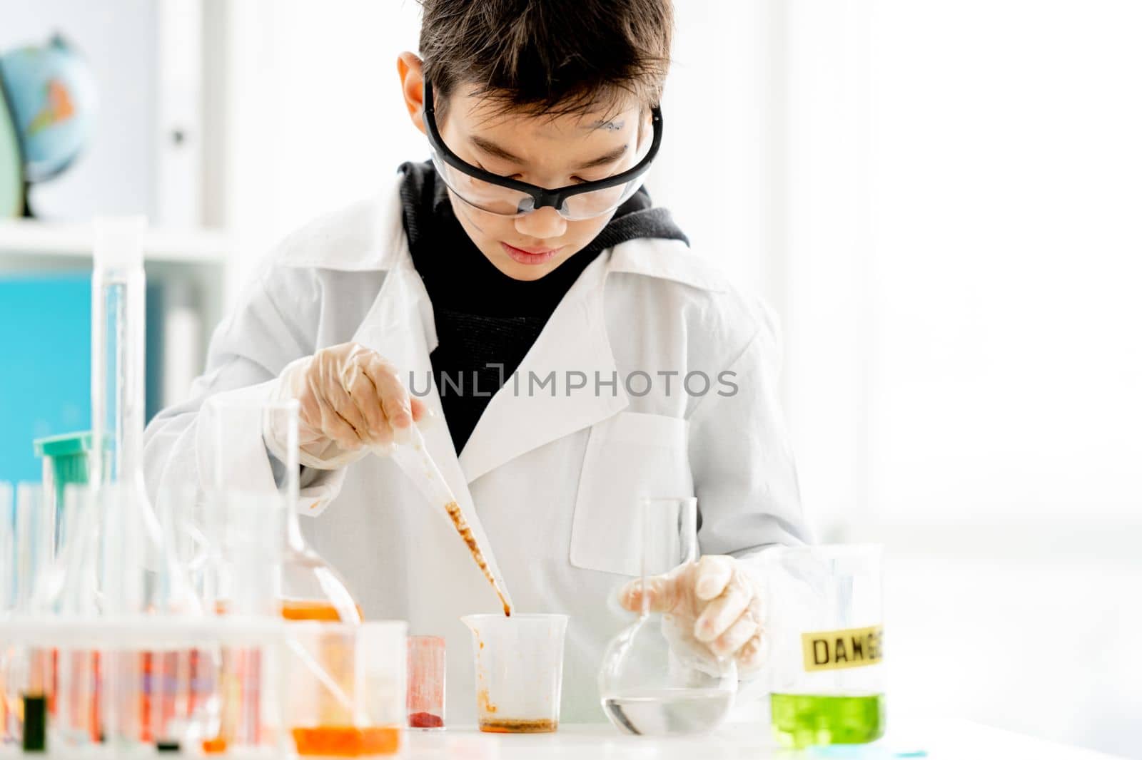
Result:
<svg viewBox="0 0 1142 760"><path fill-rule="evenodd" d="M476 660L476 712L490 734L558 729L566 615L466 615Z"/></svg>

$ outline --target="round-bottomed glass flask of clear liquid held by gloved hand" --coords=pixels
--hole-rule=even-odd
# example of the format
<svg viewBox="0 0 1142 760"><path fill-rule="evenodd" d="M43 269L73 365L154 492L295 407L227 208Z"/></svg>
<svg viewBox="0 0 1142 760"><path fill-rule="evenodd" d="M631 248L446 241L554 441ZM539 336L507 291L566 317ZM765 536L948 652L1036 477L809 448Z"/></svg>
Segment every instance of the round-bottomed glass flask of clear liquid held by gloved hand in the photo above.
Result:
<svg viewBox="0 0 1142 760"><path fill-rule="evenodd" d="M695 499L641 501L642 583L698 558ZM643 595L646 598L646 595ZM670 614L650 612L611 639L598 692L606 717L629 734L697 734L715 728L733 706L738 670L687 650ZM671 641L675 646L671 646ZM700 646L700 645L697 645Z"/></svg>

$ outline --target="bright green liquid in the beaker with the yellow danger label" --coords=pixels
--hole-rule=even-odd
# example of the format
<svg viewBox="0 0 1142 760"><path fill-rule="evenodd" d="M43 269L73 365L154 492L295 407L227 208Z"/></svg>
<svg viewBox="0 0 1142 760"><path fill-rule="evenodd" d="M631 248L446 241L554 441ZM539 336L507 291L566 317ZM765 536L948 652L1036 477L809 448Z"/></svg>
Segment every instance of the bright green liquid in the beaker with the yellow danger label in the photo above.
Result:
<svg viewBox="0 0 1142 760"><path fill-rule="evenodd" d="M884 736L884 695L772 694L770 714L781 746L864 744Z"/></svg>

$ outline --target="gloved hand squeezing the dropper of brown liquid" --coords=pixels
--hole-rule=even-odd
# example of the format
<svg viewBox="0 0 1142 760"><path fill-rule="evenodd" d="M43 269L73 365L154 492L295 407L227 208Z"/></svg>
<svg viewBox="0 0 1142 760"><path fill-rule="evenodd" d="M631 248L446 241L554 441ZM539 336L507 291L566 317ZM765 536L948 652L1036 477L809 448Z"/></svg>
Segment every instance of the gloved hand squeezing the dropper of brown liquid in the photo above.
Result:
<svg viewBox="0 0 1142 760"><path fill-rule="evenodd" d="M396 369L357 343L331 346L291 362L279 375L274 395L298 401L299 459L320 469L392 448L401 431L427 414ZM264 434L271 450L282 448L281 431Z"/></svg>

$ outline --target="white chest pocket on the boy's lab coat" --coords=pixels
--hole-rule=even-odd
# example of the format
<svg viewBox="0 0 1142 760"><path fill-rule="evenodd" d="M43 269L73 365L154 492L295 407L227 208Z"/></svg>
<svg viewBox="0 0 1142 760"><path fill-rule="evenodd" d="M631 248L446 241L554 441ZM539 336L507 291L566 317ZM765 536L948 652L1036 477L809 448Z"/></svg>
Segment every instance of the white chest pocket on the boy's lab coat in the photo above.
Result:
<svg viewBox="0 0 1142 760"><path fill-rule="evenodd" d="M593 426L571 524L571 564L638 575L638 502L692 496L686 420L620 412Z"/></svg>

